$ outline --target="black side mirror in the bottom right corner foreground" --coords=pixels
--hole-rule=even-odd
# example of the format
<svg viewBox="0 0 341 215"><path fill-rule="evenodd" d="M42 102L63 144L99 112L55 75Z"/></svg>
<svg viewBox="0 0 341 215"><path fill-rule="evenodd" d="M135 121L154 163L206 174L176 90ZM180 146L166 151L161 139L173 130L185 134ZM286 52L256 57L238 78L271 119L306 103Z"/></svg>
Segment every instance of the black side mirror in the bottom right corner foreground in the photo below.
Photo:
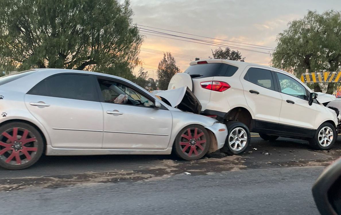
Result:
<svg viewBox="0 0 341 215"><path fill-rule="evenodd" d="M341 158L317 178L312 191L321 215L341 215Z"/></svg>

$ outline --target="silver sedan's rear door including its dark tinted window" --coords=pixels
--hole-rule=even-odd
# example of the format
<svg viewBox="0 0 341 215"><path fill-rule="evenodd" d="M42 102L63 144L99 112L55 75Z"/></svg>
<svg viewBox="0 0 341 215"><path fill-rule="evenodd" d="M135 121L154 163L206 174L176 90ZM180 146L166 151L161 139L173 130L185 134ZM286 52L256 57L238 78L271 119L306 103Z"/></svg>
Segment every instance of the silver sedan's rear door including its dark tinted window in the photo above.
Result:
<svg viewBox="0 0 341 215"><path fill-rule="evenodd" d="M102 147L103 109L95 81L92 75L60 73L25 95L28 110L44 125L53 147Z"/></svg>

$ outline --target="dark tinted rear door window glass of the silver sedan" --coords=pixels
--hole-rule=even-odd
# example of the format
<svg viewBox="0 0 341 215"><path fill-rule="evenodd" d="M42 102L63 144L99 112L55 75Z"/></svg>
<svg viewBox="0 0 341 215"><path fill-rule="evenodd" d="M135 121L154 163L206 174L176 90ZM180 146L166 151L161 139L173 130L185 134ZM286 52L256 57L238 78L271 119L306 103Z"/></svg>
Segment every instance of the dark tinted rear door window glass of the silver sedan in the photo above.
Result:
<svg viewBox="0 0 341 215"><path fill-rule="evenodd" d="M82 74L59 74L45 78L27 94L66 99L97 101L91 77Z"/></svg>

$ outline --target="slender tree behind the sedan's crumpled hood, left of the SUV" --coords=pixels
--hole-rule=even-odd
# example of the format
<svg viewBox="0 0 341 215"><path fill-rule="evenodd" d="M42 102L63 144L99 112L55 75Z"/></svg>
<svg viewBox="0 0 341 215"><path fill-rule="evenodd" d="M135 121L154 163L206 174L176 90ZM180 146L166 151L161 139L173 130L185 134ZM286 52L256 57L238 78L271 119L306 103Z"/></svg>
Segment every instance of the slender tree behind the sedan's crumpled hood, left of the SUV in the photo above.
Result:
<svg viewBox="0 0 341 215"><path fill-rule="evenodd" d="M157 70L159 88L161 90L166 90L170 79L178 72L180 72L180 69L176 66L174 57L170 52L164 53Z"/></svg>

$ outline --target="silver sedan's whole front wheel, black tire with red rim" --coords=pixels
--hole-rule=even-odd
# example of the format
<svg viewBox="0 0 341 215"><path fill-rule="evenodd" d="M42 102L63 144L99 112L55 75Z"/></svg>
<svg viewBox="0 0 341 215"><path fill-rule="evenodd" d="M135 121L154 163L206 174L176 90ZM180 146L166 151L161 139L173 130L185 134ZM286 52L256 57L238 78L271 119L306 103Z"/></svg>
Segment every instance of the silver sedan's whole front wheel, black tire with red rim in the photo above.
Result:
<svg viewBox="0 0 341 215"><path fill-rule="evenodd" d="M173 151L184 160L197 160L207 153L209 147L210 137L206 128L201 125L189 125L181 129L176 136Z"/></svg>

